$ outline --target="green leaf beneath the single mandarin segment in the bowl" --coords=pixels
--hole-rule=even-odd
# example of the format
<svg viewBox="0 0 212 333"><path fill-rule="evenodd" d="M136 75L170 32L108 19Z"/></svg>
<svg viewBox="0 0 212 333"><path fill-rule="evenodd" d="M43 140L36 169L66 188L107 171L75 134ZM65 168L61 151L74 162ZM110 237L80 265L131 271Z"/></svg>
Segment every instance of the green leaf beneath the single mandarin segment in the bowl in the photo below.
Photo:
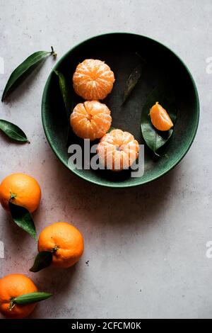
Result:
<svg viewBox="0 0 212 333"><path fill-rule="evenodd" d="M141 132L143 139L145 140L146 145L148 145L148 147L153 150L156 155L160 156L157 154L157 150L160 147L163 147L163 145L170 140L174 128L163 132L153 127L149 113L151 107L156 102L160 103L160 105L165 108L172 119L172 123L175 125L175 121L177 119L176 100L172 88L167 82L163 82L156 86L151 94L148 95L141 114Z"/></svg>

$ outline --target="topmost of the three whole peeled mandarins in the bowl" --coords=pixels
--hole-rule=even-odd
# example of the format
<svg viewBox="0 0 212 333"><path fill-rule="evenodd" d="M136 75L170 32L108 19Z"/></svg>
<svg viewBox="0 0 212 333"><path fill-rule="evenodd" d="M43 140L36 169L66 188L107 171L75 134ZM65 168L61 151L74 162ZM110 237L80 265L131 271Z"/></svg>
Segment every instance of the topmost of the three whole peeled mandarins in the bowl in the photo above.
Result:
<svg viewBox="0 0 212 333"><path fill-rule="evenodd" d="M84 99L103 99L110 94L114 73L101 60L86 59L76 67L73 74L73 89Z"/></svg>

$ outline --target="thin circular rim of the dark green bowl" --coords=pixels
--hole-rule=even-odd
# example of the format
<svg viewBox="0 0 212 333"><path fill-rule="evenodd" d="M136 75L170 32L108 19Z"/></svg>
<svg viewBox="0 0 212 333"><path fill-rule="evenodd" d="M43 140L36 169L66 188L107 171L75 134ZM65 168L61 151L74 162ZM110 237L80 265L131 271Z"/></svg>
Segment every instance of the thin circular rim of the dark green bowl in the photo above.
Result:
<svg viewBox="0 0 212 333"><path fill-rule="evenodd" d="M47 89L49 88L49 82L51 80L52 77L52 73L54 72L55 69L57 69L57 67L59 67L59 64L61 64L61 62L64 61L64 58L66 58L67 55L69 55L69 53L73 50L75 50L78 46L82 45L83 43L89 42L90 40L93 40L95 38L100 38L102 36L107 36L107 35L134 35L134 36L138 36L138 37L142 37L142 38L146 38L148 40L151 40L152 42L165 47L167 50L169 50L172 55L175 55L175 57L177 57L177 59L182 63L182 65L184 66L184 68L187 70L187 73L189 74L189 78L192 81L192 86L194 89L194 95L196 98L196 123L194 124L194 128L192 130L192 135L190 136L187 145L184 147L184 149L182 150L182 153L180 154L180 157L177 157L174 162L172 163L171 166L168 166L167 169L165 169L165 171L163 171L161 174L159 174L158 176L153 176L151 179L148 179L146 181L143 181L140 184L110 184L110 183L102 183L98 180L93 180L93 179L88 179L86 176L83 176L83 174L78 174L78 172L76 172L76 169L70 169L69 166L66 164L66 161L59 155L59 153L57 152L57 149L55 149L54 144L52 142L52 138L49 135L49 132L47 130L47 123L45 120L45 102L46 102L46 97L47 97ZM155 181L156 179L159 179L160 177L164 176L165 174L167 174L170 170L174 169L175 166L177 166L177 164L179 164L179 162L182 161L182 159L184 158L184 156L187 154L187 152L189 151L189 148L192 146L192 143L194 142L194 137L196 136L196 132L198 129L198 125L199 125L199 94L196 88L196 84L194 81L194 78L192 77L192 73L189 71L189 68L187 67L187 65L182 61L182 59L174 52L170 49L170 47L167 47L166 45L164 45L163 43L158 42L158 40L155 40L153 38L150 38L146 35L140 35L138 33L127 33L127 32L114 32L114 33L102 33L100 35L95 35L91 38L87 38L86 40L83 40L82 42L76 44L75 46L71 47L70 50L68 50L61 58L60 60L57 62L57 64L54 65L54 67L52 68L49 77L47 78L47 81L45 83L45 88L42 94L42 103L41 103L41 114L42 114L42 126L43 129L45 131L45 135L47 137L47 141L49 142L49 146L52 148L52 151L54 152L54 154L56 154L57 158L59 159L59 161L64 164L64 166L66 166L67 169L69 169L71 172L73 172L73 174L76 174L76 176L80 177L81 179L85 180L85 181L89 181L92 184L98 185L98 186L105 186L105 187L110 187L110 188L128 188L128 187L134 187L134 186L141 186L141 185L145 185L148 183L151 183L152 181ZM141 177L142 178L142 177Z"/></svg>

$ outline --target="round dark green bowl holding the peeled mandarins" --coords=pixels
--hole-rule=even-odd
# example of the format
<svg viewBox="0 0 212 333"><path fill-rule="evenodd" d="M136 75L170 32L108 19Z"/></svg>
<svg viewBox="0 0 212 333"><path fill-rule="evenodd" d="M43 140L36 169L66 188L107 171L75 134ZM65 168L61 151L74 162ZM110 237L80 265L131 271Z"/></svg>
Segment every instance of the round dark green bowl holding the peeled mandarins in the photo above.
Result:
<svg viewBox="0 0 212 333"><path fill-rule="evenodd" d="M139 84L122 106L126 79L138 64L139 53L147 62ZM112 111L112 126L131 132L139 143L141 135L141 111L146 96L160 79L169 77L177 96L177 122L170 141L163 147L167 157L155 158L145 147L145 171L141 177L131 177L127 171L72 170L76 175L94 184L111 187L129 187L146 184L170 171L184 157L194 140L199 123L199 98L189 69L182 60L164 45L142 35L131 33L110 33L99 35L73 47L61 57L54 69L66 77L72 88L72 75L79 62L86 58L104 60L114 72L116 81L112 93L104 103ZM74 95L74 94L73 94ZM73 103L81 98L74 96ZM67 167L70 154L67 149L67 119L64 102L59 91L58 77L51 72L42 96L42 123L54 153ZM83 144L83 140L72 135L71 143Z"/></svg>

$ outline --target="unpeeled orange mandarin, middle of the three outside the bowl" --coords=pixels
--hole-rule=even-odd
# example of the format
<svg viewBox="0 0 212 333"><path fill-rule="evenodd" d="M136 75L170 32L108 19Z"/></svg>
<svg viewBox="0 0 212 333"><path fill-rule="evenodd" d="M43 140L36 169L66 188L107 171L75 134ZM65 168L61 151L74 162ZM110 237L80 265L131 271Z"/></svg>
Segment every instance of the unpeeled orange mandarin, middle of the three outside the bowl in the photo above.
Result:
<svg viewBox="0 0 212 333"><path fill-rule="evenodd" d="M38 251L53 252L52 265L68 268L83 254L83 236L67 222L56 222L40 233Z"/></svg>

